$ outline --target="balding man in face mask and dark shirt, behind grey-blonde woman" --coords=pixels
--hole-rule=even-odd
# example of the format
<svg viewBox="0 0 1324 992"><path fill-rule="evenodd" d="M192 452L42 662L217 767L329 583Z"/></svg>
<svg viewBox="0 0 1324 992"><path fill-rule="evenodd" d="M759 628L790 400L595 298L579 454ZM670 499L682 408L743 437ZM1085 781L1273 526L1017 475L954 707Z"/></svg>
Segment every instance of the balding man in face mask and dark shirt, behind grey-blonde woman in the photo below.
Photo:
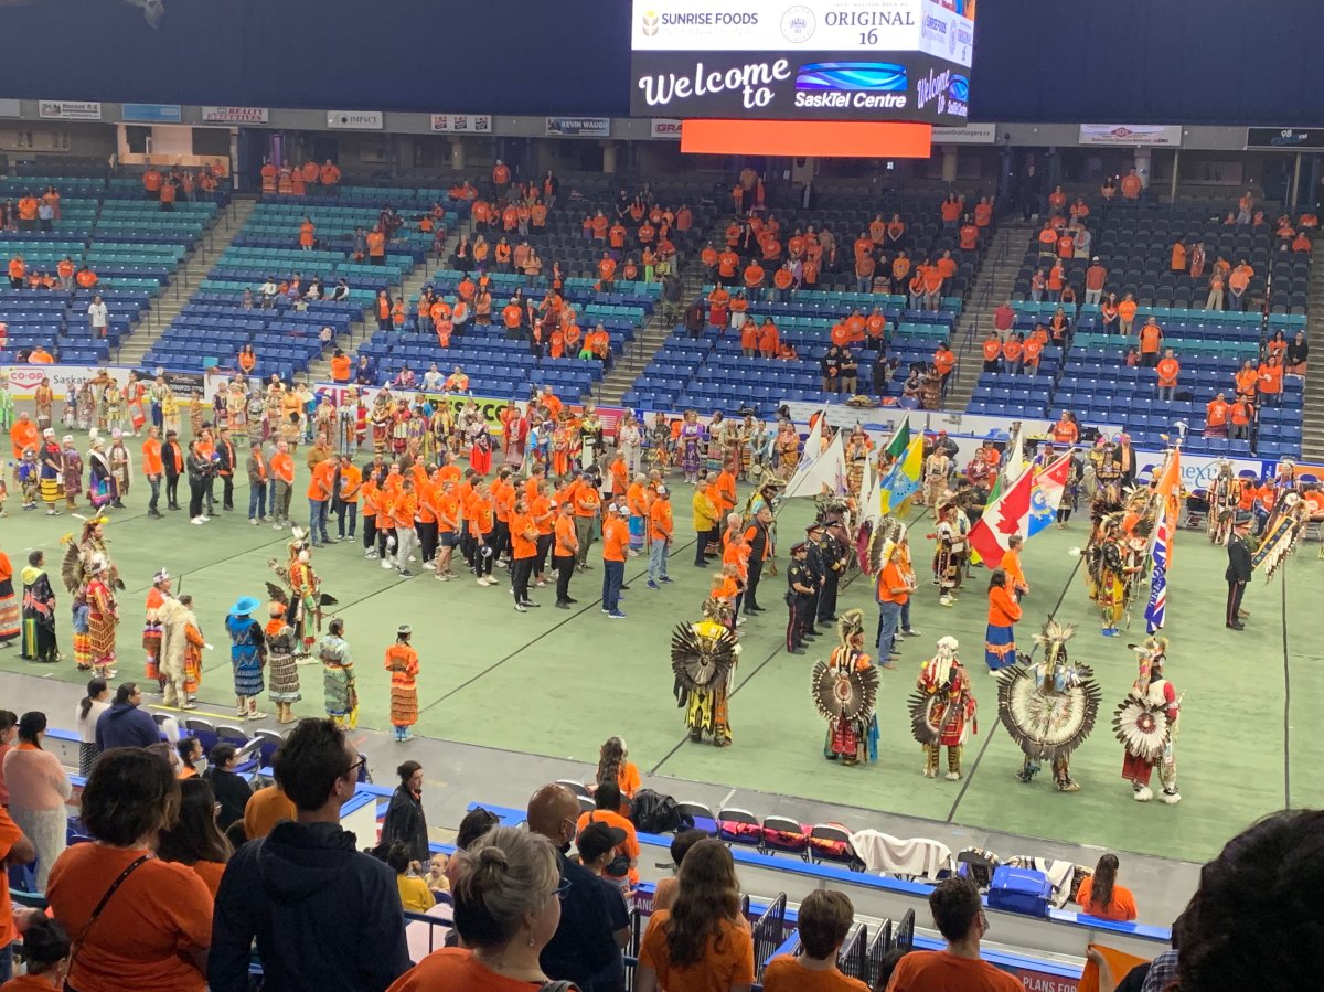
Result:
<svg viewBox="0 0 1324 992"><path fill-rule="evenodd" d="M564 785L544 785L528 800L528 830L556 846L561 885L568 886L540 963L548 977L573 981L581 992L620 992L629 918L620 889L567 857L579 815L579 800Z"/></svg>

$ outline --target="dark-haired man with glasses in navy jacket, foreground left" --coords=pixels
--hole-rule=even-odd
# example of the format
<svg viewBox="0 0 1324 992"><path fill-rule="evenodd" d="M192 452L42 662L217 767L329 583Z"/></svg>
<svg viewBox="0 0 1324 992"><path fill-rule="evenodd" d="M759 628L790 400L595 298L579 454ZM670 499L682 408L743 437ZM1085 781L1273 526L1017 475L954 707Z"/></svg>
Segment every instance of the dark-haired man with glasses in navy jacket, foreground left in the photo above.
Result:
<svg viewBox="0 0 1324 992"><path fill-rule="evenodd" d="M340 828L361 763L327 719L302 720L281 747L275 781L297 815L225 868L207 967L212 992L248 992L254 938L265 988L384 992L409 969L395 873Z"/></svg>

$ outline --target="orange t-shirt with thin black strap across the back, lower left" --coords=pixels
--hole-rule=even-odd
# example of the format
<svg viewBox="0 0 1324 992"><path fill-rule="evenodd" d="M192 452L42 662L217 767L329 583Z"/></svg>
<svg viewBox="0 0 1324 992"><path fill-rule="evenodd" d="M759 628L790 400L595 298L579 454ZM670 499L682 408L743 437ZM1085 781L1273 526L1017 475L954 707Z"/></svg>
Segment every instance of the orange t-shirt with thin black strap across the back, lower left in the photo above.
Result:
<svg viewBox="0 0 1324 992"><path fill-rule="evenodd" d="M77 844L56 860L46 897L70 934L82 934L106 890L146 850ZM188 866L150 858L124 879L78 946L69 984L78 992L203 992L189 954L212 943L212 894Z"/></svg>

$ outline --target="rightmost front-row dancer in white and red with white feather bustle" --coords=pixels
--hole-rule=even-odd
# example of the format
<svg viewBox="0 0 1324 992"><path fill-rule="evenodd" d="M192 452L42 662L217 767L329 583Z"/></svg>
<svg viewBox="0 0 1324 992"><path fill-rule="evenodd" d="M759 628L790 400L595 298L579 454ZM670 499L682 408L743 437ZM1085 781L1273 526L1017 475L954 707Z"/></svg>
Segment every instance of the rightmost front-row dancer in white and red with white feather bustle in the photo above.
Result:
<svg viewBox="0 0 1324 992"><path fill-rule="evenodd" d="M1131 783L1133 800L1148 803L1155 795L1149 777L1158 766L1161 799L1172 805L1181 801L1173 752L1181 697L1162 674L1168 661L1168 638L1148 637L1144 644L1132 645L1132 650L1139 656L1140 677L1117 703L1112 717L1112 728L1125 748L1121 777Z"/></svg>

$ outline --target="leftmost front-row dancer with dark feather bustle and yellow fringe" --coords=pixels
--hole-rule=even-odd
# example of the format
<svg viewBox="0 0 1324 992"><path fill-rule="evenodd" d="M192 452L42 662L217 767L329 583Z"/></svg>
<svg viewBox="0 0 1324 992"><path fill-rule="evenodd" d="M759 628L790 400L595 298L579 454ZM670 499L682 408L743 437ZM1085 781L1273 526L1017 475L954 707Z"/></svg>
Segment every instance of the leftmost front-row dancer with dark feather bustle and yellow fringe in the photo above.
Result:
<svg viewBox="0 0 1324 992"><path fill-rule="evenodd" d="M716 747L731 743L727 701L740 645L731 625L731 604L708 597L703 620L679 624L671 633L671 671L677 705L685 709L690 740L712 736Z"/></svg>

